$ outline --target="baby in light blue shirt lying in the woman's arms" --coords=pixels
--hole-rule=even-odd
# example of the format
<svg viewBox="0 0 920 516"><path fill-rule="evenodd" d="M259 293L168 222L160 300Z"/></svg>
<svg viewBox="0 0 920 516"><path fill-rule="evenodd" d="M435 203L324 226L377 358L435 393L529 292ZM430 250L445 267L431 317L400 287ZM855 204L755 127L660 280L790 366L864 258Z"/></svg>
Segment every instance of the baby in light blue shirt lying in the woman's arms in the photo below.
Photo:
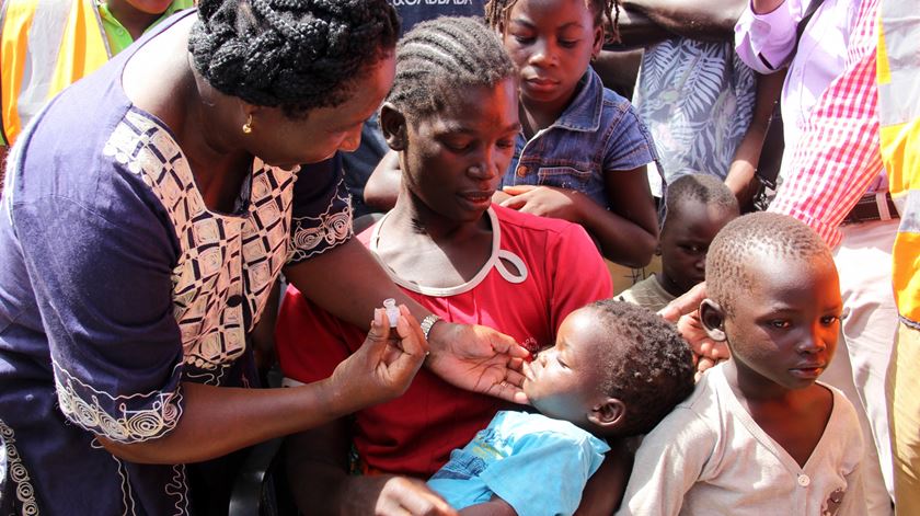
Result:
<svg viewBox="0 0 920 516"><path fill-rule="evenodd" d="M674 326L609 299L568 314L525 374L540 413L498 412L428 481L461 514L573 514L610 449L603 438L651 431L693 390Z"/></svg>

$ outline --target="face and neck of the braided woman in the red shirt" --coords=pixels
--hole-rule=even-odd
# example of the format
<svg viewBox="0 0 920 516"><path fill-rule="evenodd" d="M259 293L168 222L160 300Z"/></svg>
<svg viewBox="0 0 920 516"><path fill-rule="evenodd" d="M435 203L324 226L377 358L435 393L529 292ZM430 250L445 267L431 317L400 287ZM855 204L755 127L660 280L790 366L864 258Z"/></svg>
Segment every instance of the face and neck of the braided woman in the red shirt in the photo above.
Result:
<svg viewBox="0 0 920 516"><path fill-rule="evenodd" d="M407 282L448 288L470 280L492 253L485 211L520 130L516 80L468 88L417 119L384 105L380 122L399 150L402 182L378 230L378 255Z"/></svg>

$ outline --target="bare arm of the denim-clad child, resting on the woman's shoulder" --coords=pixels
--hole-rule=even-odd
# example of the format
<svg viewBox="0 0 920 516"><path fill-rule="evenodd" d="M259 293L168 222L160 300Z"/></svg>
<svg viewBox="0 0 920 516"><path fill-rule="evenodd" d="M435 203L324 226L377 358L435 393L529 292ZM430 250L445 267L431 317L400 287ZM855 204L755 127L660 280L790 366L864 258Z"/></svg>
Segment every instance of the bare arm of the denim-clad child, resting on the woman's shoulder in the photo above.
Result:
<svg viewBox="0 0 920 516"><path fill-rule="evenodd" d="M578 191L553 186L507 186L505 193L513 197L502 205L580 223L598 241L607 260L642 267L652 260L658 242L658 219L646 177L645 165L606 172L612 210Z"/></svg>

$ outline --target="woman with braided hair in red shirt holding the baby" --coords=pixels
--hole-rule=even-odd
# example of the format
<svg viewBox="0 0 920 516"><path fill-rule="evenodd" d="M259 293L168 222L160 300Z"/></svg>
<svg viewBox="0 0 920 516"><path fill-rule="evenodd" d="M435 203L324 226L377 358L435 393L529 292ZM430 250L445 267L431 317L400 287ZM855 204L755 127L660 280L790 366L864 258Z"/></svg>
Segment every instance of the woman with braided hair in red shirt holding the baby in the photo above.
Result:
<svg viewBox="0 0 920 516"><path fill-rule="evenodd" d="M580 226L491 204L520 131L515 77L495 34L474 19L442 18L403 38L380 113L402 190L359 238L433 313L536 351L552 344L568 312L612 293ZM276 330L286 381L329 377L363 341L360 329L288 289ZM413 479L427 479L507 405L423 368L402 398L289 438L289 483L311 514L442 507ZM363 475L348 474L353 444Z"/></svg>

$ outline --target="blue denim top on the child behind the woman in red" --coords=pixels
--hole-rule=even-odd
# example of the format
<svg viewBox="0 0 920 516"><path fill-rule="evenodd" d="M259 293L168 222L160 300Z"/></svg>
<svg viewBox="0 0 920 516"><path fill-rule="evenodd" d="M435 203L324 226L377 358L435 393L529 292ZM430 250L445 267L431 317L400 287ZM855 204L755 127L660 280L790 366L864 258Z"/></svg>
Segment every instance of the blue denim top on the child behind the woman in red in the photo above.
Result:
<svg viewBox="0 0 920 516"><path fill-rule="evenodd" d="M502 186L547 185L583 192L610 209L603 172L657 159L655 145L629 101L603 88L591 69L572 103L530 141L520 133Z"/></svg>

